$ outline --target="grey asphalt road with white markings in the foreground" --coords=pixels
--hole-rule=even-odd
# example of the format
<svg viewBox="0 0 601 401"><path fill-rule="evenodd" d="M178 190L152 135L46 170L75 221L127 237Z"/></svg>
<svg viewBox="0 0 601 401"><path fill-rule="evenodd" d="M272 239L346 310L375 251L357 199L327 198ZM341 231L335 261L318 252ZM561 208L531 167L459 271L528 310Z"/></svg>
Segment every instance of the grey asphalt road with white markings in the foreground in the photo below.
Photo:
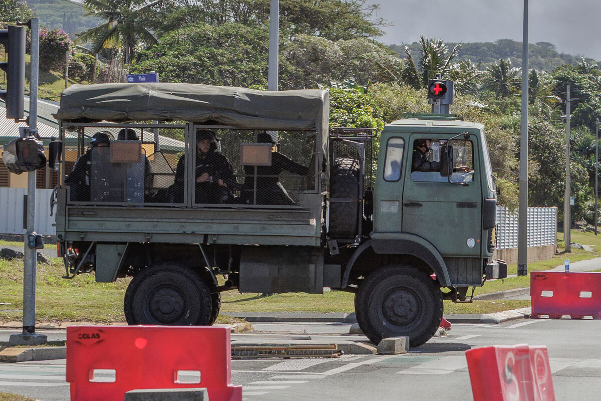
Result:
<svg viewBox="0 0 601 401"><path fill-rule="evenodd" d="M234 343L339 342L343 323L255 323L261 332L232 335ZM465 350L495 344L548 347L558 401L599 400L601 320L522 319L492 324L454 324L447 337L432 338L404 355L348 355L337 359L234 360L232 380L247 401L472 399ZM325 332L325 335L316 334ZM57 336L59 337L59 335ZM302 340L301 338L305 338ZM311 338L311 340L307 340ZM65 360L0 364L0 391L41 401L69 400Z"/></svg>

